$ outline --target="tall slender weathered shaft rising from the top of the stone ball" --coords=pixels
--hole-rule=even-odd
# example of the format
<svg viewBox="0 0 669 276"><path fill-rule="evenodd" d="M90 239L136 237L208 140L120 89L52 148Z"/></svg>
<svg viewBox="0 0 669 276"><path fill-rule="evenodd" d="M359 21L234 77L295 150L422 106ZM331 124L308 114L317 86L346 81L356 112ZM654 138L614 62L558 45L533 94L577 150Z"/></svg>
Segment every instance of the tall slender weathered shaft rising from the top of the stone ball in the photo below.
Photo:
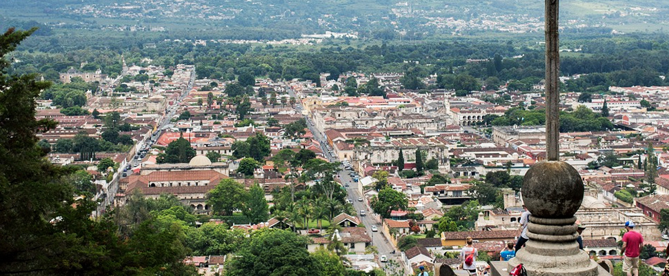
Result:
<svg viewBox="0 0 669 276"><path fill-rule="evenodd" d="M559 160L559 0L546 0L546 157Z"/></svg>

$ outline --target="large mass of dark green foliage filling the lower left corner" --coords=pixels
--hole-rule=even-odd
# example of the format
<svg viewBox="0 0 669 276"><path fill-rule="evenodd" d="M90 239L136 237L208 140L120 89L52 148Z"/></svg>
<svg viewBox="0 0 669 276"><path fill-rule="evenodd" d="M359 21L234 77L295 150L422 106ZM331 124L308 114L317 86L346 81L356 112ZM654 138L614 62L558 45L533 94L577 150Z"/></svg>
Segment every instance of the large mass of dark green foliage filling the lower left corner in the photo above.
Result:
<svg viewBox="0 0 669 276"><path fill-rule="evenodd" d="M0 36L0 274L192 274L181 262L187 250L180 228L149 220L130 236L119 234L111 217L90 218L97 202L74 199L92 190L85 172L43 158L34 134L55 124L35 120L34 99L48 83L6 75L4 59L32 31Z"/></svg>

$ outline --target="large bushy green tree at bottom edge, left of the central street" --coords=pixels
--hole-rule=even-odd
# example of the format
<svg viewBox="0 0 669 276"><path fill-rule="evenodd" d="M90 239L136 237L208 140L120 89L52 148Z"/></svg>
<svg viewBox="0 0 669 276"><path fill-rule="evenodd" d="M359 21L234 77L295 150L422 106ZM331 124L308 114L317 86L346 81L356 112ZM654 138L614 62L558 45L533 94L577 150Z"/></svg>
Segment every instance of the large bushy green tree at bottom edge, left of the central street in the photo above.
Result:
<svg viewBox="0 0 669 276"><path fill-rule="evenodd" d="M309 255L306 237L286 230L254 231L245 246L235 254L226 275L286 275L320 274L323 266Z"/></svg>

